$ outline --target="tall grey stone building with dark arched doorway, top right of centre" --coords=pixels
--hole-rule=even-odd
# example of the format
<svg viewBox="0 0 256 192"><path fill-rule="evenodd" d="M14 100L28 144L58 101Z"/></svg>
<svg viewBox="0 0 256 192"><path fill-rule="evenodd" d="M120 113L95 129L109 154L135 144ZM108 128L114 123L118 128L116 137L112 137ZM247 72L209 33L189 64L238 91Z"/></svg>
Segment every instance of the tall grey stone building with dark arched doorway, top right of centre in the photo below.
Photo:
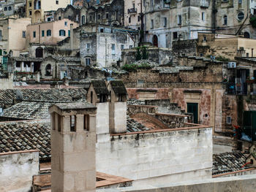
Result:
<svg viewBox="0 0 256 192"><path fill-rule="evenodd" d="M145 39L157 47L172 47L179 38L197 39L212 29L212 1L145 1Z"/></svg>

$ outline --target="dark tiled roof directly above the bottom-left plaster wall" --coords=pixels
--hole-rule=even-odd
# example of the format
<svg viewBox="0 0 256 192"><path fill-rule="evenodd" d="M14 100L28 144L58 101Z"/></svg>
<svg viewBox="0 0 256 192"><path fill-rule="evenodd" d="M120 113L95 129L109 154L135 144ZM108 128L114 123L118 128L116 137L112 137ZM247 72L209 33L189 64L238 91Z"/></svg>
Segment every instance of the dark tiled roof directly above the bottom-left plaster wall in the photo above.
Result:
<svg viewBox="0 0 256 192"><path fill-rule="evenodd" d="M41 161L50 158L50 123L0 123L0 153L36 149Z"/></svg>

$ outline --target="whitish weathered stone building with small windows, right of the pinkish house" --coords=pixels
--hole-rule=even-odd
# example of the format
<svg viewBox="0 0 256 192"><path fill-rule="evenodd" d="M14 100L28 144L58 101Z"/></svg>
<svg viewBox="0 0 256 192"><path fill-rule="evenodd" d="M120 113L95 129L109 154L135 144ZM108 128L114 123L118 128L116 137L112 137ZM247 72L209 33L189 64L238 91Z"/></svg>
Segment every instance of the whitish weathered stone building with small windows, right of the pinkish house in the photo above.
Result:
<svg viewBox="0 0 256 192"><path fill-rule="evenodd" d="M80 36L80 58L83 66L118 65L121 50L137 45L137 33L126 28L88 24Z"/></svg>

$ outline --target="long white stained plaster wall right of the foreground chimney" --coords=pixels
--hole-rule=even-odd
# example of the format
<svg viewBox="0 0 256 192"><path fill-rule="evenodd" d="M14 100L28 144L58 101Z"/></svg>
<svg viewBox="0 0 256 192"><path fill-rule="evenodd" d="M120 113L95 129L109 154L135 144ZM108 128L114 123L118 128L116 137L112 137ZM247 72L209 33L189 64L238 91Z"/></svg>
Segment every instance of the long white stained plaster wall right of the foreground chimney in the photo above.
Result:
<svg viewBox="0 0 256 192"><path fill-rule="evenodd" d="M190 180L195 175L211 178L211 128L124 134L110 140L97 143L98 172L127 177L134 185L166 178L168 183Z"/></svg>

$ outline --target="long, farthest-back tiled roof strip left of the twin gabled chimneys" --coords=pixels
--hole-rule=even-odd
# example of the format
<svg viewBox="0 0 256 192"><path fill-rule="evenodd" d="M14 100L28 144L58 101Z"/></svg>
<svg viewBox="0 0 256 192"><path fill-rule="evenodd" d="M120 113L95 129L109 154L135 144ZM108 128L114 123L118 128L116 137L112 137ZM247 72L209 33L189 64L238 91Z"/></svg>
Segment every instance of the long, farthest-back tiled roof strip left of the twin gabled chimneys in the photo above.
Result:
<svg viewBox="0 0 256 192"><path fill-rule="evenodd" d="M17 90L0 90L0 106L12 104L17 98ZM23 101L73 102L86 99L86 90L83 88L19 89L19 91L23 96Z"/></svg>

